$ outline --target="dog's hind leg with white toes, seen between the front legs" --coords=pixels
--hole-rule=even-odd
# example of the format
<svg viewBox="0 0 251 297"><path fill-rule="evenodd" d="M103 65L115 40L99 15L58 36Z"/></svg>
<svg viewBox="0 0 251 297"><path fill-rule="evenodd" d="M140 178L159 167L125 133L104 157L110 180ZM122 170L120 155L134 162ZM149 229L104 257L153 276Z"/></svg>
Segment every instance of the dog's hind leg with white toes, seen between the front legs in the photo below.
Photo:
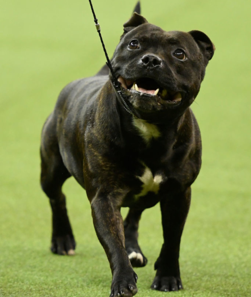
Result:
<svg viewBox="0 0 251 297"><path fill-rule="evenodd" d="M125 250L132 267L143 267L147 264L147 258L143 255L138 244L138 228L142 211L130 208L124 220Z"/></svg>

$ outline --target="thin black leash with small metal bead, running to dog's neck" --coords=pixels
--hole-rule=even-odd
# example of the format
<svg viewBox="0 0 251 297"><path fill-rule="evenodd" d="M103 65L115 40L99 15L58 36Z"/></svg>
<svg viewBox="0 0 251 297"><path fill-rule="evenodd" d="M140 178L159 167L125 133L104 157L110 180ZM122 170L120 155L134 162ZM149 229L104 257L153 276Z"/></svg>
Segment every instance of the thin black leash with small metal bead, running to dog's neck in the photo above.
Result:
<svg viewBox="0 0 251 297"><path fill-rule="evenodd" d="M110 69L110 71L111 71L111 74L112 74L112 80L113 80L112 83L113 83L113 85L114 85L114 88L115 88L115 90L117 91L117 93L119 94L119 96L120 96L120 98L121 98L121 100L122 100L122 102L123 102L123 106L124 106L125 110L126 110L127 112L129 112L134 118L137 119L138 117L137 117L137 116L134 114L134 112L130 109L130 107L129 107L129 106L127 105L127 103L125 102L125 99L123 98L123 94L122 94L122 92L121 92L121 86L120 86L120 83L119 83L118 80L116 79L115 73L114 73L114 71L113 71L113 69L112 69L111 62L110 62L110 60L109 60L107 51L106 51L105 46L104 46L104 41L103 41L102 35L101 35L101 33L100 33L100 31L101 31L101 29L100 29L100 25L99 25L99 23L98 23L98 19L96 18L96 15L95 15L95 12L94 12L94 9L93 9L93 5L92 5L92 1L89 0L89 3L90 3L90 6L91 6L91 9L92 9L92 13L93 13L93 18L94 18L95 26L96 26L96 29L97 29L97 31L98 31L98 33L99 33L99 38L100 38L100 41L101 41L101 43L102 43L103 50L104 50L104 54L105 54L105 57L106 57L106 60L107 60L106 65L109 67L109 69Z"/></svg>

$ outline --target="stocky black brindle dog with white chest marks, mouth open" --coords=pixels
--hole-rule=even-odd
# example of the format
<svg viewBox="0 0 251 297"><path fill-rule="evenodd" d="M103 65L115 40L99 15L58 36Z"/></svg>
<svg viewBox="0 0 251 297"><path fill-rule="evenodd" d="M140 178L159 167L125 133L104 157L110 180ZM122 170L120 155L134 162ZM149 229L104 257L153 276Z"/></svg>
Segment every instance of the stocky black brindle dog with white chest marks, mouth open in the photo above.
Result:
<svg viewBox="0 0 251 297"><path fill-rule="evenodd" d="M61 191L70 176L86 190L98 239L109 260L110 297L137 293L133 267L144 209L160 203L163 246L152 289L183 289L179 247L191 185L201 167L201 137L190 105L215 47L201 31L166 32L140 15L124 24L111 65L68 84L41 137L41 186L52 209L51 251L73 255L75 240ZM124 222L121 207L129 207Z"/></svg>

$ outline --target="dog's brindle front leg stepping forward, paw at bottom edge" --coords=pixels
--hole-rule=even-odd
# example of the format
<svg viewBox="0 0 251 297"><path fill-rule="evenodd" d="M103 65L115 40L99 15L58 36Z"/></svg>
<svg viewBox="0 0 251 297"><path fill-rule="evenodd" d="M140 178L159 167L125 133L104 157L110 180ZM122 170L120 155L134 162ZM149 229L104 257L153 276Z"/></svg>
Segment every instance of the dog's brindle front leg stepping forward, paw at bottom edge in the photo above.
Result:
<svg viewBox="0 0 251 297"><path fill-rule="evenodd" d="M112 271L110 297L131 297L137 293L137 275L125 251L125 235L120 208L107 196L91 202L93 224Z"/></svg>

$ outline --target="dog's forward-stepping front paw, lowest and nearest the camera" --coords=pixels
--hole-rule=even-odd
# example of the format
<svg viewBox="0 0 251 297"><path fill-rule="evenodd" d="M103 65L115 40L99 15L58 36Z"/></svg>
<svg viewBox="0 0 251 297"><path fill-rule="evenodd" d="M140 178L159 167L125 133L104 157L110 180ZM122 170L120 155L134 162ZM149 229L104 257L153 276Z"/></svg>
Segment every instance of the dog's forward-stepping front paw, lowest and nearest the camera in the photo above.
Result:
<svg viewBox="0 0 251 297"><path fill-rule="evenodd" d="M137 274L132 271L127 274L125 272L114 274L110 297L131 297L137 292Z"/></svg>

